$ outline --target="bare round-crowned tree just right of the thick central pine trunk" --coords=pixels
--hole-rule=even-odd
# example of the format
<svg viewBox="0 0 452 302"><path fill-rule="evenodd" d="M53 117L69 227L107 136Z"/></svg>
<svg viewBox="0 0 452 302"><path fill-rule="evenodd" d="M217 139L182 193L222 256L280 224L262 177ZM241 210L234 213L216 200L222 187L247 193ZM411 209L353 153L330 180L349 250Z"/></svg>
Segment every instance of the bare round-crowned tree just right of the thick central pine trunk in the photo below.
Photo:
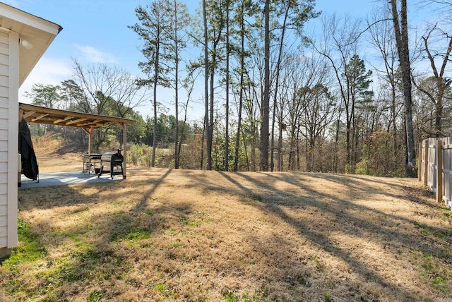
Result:
<svg viewBox="0 0 452 302"><path fill-rule="evenodd" d="M314 171L316 143L321 143L326 128L335 116L335 104L328 92L331 73L325 56L287 55L282 73L280 97L285 99L282 128L289 138L288 169L299 170L302 138L307 143L307 171Z"/></svg>

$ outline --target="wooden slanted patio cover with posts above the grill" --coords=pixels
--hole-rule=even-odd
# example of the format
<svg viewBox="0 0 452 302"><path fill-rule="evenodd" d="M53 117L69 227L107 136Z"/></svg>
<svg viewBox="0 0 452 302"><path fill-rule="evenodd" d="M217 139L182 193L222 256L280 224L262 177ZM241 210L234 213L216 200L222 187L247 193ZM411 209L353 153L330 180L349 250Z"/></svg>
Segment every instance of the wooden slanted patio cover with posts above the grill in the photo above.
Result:
<svg viewBox="0 0 452 302"><path fill-rule="evenodd" d="M88 134L88 156L92 154L93 132L97 128L117 125L123 131L123 157L124 157L124 179L127 175L127 124L133 124L133 119L123 119L114 116L103 116L100 114L87 114L76 111L67 111L41 107L32 104L19 103L19 121L25 119L28 123L44 123L55 126L70 126L82 128Z"/></svg>

